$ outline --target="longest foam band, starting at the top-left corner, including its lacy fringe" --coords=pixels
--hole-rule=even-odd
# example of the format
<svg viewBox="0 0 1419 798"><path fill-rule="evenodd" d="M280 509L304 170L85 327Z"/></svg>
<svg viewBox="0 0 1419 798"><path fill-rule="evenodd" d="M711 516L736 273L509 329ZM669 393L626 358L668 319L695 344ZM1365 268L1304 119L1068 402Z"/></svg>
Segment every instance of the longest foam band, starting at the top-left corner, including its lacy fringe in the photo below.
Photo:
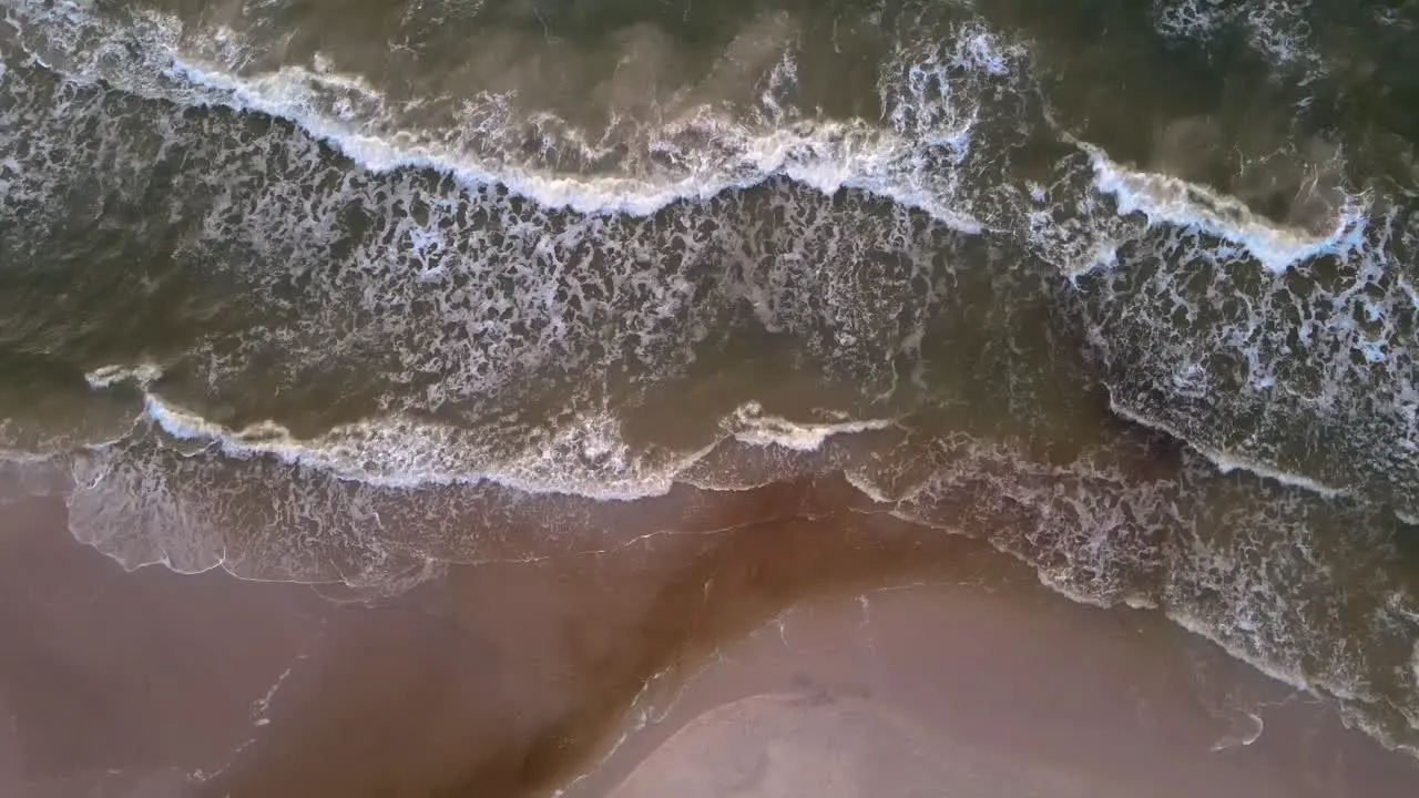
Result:
<svg viewBox="0 0 1419 798"><path fill-rule="evenodd" d="M226 28L186 30L175 17L155 11L115 27L72 0L54 7L16 0L14 6L11 24L21 33L21 45L74 80L104 80L184 105L258 111L299 125L370 170L427 168L583 213L643 216L677 200L702 200L785 175L824 193L860 189L964 231L979 231L983 223L954 196L959 180L952 175L969 151L978 119L981 99L971 82L1015 80L1023 58L1019 45L982 24L958 28L944 51L908 48L904 57L918 62L894 72L898 64L891 64L883 75L891 126L792 116L769 91L761 112L744 118L701 105L653 125L578 131L548 111L518 108L512 95L484 92L463 101L464 118L448 129L424 131L402 121L402 108L368 78L335 72L319 58L311 65L241 72L238 65L250 60L247 45ZM126 61L123 54L129 54ZM796 80L796 71L783 64L792 64L790 53L766 77L771 88ZM975 77L964 78L962 71ZM893 108L911 108L910 118ZM624 169L595 175L538 163L538 156L521 152L528 125L543 135L543 155L568 151L597 160L630 145L630 160ZM924 159L925 148L946 148L955 162ZM650 166L657 160L660 166Z"/></svg>

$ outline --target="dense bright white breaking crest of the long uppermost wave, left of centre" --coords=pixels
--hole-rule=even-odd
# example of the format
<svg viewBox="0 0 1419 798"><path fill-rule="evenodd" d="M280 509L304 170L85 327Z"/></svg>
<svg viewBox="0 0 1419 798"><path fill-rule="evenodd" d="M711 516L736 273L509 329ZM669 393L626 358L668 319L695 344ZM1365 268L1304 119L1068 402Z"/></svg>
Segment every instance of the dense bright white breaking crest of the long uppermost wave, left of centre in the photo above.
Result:
<svg viewBox="0 0 1419 798"><path fill-rule="evenodd" d="M949 60L915 67L920 80L935 80L945 84L946 70L969 67L986 75L1007 74L1007 57L1017 55L1000 45L983 28L962 33L958 51ZM402 166L417 166L454 175L474 185L497 183L511 192L529 197L548 207L566 207L580 213L629 213L651 214L678 200L704 200L731 189L758 185L775 175L788 176L822 193L832 195L839 189L860 189L878 195L908 207L929 213L939 222L966 233L978 233L982 223L969 212L958 207L951 196L948 180L938 179L939 166L931 168L920 160L924 143L942 145L965 152L973 114L971 97L948 97L931 99L924 95L924 85L907 87L905 94L918 108L929 109L934 102L962 102L961 109L934 119L925 129L884 129L861 119L827 121L800 119L790 124L755 119L731 119L715 109L704 106L683 114L680 118L657 122L654 128L643 128L631 142L646 152L673 152L683 170L658 170L647 175L578 175L549 170L519 162L518 156L498 152L480 155L470 141L450 146L437 136L419 129L397 129L387 126L394 115L389 101L368 80L356 75L341 75L311 70L299 65L282 67L260 75L237 75L217 64L189 60L173 48L173 70L187 82L213 89L213 102L238 109L251 109L272 116L289 119L302 129L331 142L341 152L375 172L387 172ZM785 77L786 75L786 77ZM779 80L792 80L785 72ZM900 91L893 85L893 91ZM346 94L356 99L350 105L373 109L375 118L362 119L353 114L331 114L322 111L322 94ZM517 115L511 108L512 98L484 95L470 114L477 119L475 139L498 142L517 135ZM773 111L769 108L769 111ZM546 112L536 116L552 122ZM771 114L771 116L778 116ZM492 125L490 128L490 125ZM497 126L504 129L495 129ZM929 141L922 138L929 135ZM556 146L583 151L595 159L604 145L589 145L587 136L563 128ZM712 149L685 151L680 139L711 141ZM502 146L495 145L495 151ZM593 152L596 151L596 152ZM639 169L633 169L637 172Z"/></svg>

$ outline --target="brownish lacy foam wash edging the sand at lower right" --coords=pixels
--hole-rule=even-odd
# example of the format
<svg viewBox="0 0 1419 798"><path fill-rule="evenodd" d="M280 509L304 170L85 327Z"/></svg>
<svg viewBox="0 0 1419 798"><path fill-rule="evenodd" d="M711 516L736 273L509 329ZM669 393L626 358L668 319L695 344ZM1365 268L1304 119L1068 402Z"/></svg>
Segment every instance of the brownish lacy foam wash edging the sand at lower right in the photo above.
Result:
<svg viewBox="0 0 1419 798"><path fill-rule="evenodd" d="M1412 626L1357 628L1344 621L1347 609L1297 612L1315 595L1365 608L1392 589L1388 575L1366 584L1349 582L1355 571L1345 575L1357 552L1331 524L1355 515L1331 514L1334 505L1305 494L1219 481L1191 456L1181 481L1154 486L1122 463L1054 466L989 444L946 449L931 461L935 473L893 514L979 535L1073 601L1161 606L1183 629L1284 684L1338 700L1368 733L1401 745L1398 730L1368 710L1388 700L1415 716L1413 693L1382 697L1412 690L1393 669L1410 667ZM1392 642L1405 646L1395 659L1385 653Z"/></svg>

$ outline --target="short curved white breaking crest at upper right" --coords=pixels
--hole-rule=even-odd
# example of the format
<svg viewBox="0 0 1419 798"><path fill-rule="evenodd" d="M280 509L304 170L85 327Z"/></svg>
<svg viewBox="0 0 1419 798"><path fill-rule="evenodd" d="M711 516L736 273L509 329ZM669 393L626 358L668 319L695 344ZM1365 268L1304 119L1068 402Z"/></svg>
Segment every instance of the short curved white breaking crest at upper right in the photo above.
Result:
<svg viewBox="0 0 1419 798"><path fill-rule="evenodd" d="M1358 246L1365 227L1365 203L1345 197L1332 227L1323 234L1277 226L1240 200L1210 187L1154 172L1137 172L1112 162L1103 149L1080 143L1094 166L1094 186L1112 195L1122 214L1142 213L1149 224L1168 223L1199 230L1246 247L1271 271L1327 253Z"/></svg>

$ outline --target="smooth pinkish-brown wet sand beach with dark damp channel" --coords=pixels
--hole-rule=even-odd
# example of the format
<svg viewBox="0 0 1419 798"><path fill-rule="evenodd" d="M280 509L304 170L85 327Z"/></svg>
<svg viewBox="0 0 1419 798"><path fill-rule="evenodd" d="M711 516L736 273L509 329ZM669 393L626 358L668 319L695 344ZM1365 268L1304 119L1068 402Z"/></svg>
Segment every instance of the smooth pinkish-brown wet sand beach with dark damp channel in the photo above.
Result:
<svg viewBox="0 0 1419 798"><path fill-rule="evenodd" d="M454 567L375 602L125 574L72 541L57 500L11 504L0 794L1419 788L1412 760L1156 613L1071 603L843 496L711 494L681 532Z"/></svg>

